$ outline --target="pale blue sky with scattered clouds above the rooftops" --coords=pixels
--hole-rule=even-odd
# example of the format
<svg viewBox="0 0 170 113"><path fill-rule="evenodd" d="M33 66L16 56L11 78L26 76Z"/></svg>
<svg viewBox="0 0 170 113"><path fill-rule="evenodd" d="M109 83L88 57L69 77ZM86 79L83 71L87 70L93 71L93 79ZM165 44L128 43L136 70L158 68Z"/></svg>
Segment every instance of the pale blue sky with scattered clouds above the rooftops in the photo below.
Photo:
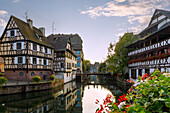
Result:
<svg viewBox="0 0 170 113"><path fill-rule="evenodd" d="M25 21L27 12L46 36L79 34L85 59L103 62L109 44L124 33L141 32L155 9L170 11L170 0L0 0L0 35L11 15Z"/></svg>

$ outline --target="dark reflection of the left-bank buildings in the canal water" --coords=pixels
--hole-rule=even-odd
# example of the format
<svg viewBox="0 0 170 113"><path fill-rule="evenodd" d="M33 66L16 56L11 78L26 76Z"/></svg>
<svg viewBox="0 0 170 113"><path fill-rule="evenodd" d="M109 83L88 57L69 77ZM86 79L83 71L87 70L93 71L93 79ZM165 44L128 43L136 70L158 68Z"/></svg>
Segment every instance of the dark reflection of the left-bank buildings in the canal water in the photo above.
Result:
<svg viewBox="0 0 170 113"><path fill-rule="evenodd" d="M53 90L0 96L0 113L82 113L78 87L73 81Z"/></svg>

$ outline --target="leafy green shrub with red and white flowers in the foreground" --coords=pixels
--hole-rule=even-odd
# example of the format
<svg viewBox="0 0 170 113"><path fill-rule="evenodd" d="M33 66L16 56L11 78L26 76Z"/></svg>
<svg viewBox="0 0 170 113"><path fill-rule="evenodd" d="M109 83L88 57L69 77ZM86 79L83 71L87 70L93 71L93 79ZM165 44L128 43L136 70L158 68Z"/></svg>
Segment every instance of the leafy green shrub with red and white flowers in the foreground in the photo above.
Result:
<svg viewBox="0 0 170 113"><path fill-rule="evenodd" d="M169 93L170 77L163 75L156 70L151 76L147 74L128 90L126 95L122 95L118 99L118 103L110 101L106 97L100 109L96 113L116 112L116 113L154 113L169 112L170 109L170 93Z"/></svg>

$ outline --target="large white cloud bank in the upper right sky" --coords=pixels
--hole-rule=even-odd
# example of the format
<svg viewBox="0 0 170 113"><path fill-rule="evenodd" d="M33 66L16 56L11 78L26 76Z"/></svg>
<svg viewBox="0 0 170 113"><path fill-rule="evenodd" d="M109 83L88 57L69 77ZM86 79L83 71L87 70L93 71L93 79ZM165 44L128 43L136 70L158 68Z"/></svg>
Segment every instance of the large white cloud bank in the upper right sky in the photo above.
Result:
<svg viewBox="0 0 170 113"><path fill-rule="evenodd" d="M123 3L125 1L126 4ZM130 28L138 32L141 27L148 24L155 9L163 9L169 5L169 0L115 0L102 6L90 7L86 11L81 11L80 13L87 14L92 18L99 16L126 16L130 24L134 22L140 24L140 26Z"/></svg>

